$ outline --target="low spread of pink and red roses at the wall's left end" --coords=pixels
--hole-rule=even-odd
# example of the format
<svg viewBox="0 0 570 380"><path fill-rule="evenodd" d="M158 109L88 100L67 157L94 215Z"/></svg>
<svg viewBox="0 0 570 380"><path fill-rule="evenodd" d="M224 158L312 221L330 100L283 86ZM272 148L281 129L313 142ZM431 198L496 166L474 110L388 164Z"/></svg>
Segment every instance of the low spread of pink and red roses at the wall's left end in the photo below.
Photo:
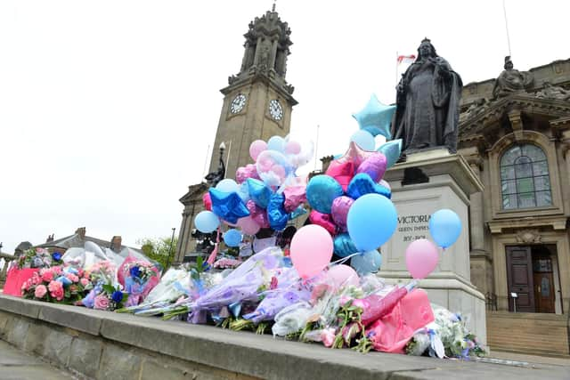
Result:
<svg viewBox="0 0 570 380"><path fill-rule="evenodd" d="M89 280L73 268L53 266L35 272L22 285L24 298L50 303L76 303L85 293Z"/></svg>

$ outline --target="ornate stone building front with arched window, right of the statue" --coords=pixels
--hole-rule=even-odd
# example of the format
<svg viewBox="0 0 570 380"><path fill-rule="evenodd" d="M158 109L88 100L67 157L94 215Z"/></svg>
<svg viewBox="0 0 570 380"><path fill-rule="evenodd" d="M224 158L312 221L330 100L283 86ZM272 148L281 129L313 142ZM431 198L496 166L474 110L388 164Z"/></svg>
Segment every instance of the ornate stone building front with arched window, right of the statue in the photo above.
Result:
<svg viewBox="0 0 570 380"><path fill-rule="evenodd" d="M493 309L570 308L570 60L463 88L459 152L471 196L471 281Z"/></svg>

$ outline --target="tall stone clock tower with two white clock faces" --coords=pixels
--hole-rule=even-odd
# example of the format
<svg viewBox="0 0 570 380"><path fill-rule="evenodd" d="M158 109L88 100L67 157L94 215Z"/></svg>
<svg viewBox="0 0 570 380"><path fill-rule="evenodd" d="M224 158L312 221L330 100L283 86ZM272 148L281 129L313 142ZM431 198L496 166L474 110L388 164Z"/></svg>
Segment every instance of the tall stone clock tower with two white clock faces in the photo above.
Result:
<svg viewBox="0 0 570 380"><path fill-rule="evenodd" d="M252 163L249 145L256 140L267 141L273 135L289 134L293 86L285 80L291 30L279 14L265 12L249 23L244 35L244 53L240 72L228 77L224 105L217 126L210 172L215 172L219 155L216 147L226 147L226 177L235 178L238 167Z"/></svg>

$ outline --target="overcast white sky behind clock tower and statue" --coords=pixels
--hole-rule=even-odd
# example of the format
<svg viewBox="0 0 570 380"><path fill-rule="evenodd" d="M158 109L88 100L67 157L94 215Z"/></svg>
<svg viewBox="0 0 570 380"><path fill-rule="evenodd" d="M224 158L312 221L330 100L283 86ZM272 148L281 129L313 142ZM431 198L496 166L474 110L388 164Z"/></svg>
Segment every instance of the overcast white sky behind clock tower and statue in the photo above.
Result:
<svg viewBox="0 0 570 380"><path fill-rule="evenodd" d="M87 235L138 247L182 222L227 77L271 0L0 2L0 242ZM519 70L570 58L565 0L506 0ZM291 28L291 137L342 153L352 115L395 101L396 53L431 39L464 84L509 55L501 0L279 0ZM313 170L312 162L306 171Z"/></svg>

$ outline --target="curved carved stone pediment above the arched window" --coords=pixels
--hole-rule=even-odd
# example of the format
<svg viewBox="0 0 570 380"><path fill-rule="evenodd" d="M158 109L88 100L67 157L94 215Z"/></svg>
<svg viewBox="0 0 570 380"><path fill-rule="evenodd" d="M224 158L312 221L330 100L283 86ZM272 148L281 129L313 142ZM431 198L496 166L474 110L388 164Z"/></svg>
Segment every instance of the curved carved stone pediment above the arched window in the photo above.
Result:
<svg viewBox="0 0 570 380"><path fill-rule="evenodd" d="M538 98L533 93L515 93L495 101L482 101L460 115L459 141L481 139L488 128L501 125L513 113L549 120L566 118L570 117L570 101Z"/></svg>

